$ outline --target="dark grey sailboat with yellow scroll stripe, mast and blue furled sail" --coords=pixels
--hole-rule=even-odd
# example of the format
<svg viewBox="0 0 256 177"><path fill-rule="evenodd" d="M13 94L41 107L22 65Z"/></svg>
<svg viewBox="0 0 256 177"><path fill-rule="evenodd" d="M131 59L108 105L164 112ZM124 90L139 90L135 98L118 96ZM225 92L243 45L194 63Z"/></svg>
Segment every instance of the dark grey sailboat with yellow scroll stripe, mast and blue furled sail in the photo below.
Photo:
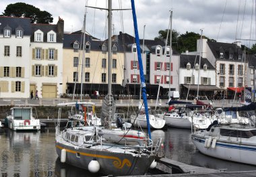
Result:
<svg viewBox="0 0 256 177"><path fill-rule="evenodd" d="M134 1L131 0L133 9L133 22L135 26L136 41L139 41L137 32L137 20L135 14ZM112 26L112 1L108 0L108 58L111 56L111 26ZM137 44L137 50L139 44ZM140 54L140 52L138 52ZM141 62L141 58L139 59ZM140 64L142 67L142 64ZM110 63L108 64L110 67ZM145 99L146 112L148 114L148 103L146 100L146 84L143 78L143 68L141 72L141 85L143 98ZM108 97L111 98L111 75L108 73ZM108 100L111 104L112 99ZM109 109L109 116L104 117L106 126L110 129L113 110ZM102 128L94 126L88 129L86 126L76 126L79 121L74 120L73 126L60 130L61 107L59 107L59 117L56 127L55 146L56 151L61 158L61 162L84 168L90 172L99 172L115 176L141 175L145 174L148 169L154 168L156 162L156 151L159 149L160 140L154 143L151 139L150 126L148 123L149 138L145 139L148 143L144 145L119 145L106 143L104 138L99 135ZM148 116L147 116L148 119Z"/></svg>

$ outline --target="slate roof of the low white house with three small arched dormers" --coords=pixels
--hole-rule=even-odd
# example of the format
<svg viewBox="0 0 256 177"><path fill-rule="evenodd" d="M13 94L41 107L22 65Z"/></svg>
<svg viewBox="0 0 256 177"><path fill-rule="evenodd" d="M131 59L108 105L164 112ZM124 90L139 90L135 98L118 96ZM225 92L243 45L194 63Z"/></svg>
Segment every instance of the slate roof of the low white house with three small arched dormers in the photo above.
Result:
<svg viewBox="0 0 256 177"><path fill-rule="evenodd" d="M196 60L196 61L195 61ZM199 56L195 55L183 55L180 56L180 68L187 68L187 63L191 64L191 68L195 68L194 64L199 64ZM203 65L207 65L207 70L215 70L214 66L207 60L207 58L201 57L200 68L203 69Z"/></svg>

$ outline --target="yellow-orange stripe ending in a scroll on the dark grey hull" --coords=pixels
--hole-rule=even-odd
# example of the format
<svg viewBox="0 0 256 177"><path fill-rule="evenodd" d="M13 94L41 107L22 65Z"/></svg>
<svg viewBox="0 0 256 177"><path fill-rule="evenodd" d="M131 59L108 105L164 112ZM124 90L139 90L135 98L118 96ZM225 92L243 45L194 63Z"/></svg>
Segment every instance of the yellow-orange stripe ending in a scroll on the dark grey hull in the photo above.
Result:
<svg viewBox="0 0 256 177"><path fill-rule="evenodd" d="M59 148L60 150L63 150L65 148L61 147L60 145L56 145L56 148ZM123 166L127 165L128 167L131 166L131 162L128 159L124 159L123 162L121 162L121 160L117 157L114 156L103 156L103 155L97 155L97 154L88 154L88 153L84 153L84 152L75 152L73 150L67 150L65 149L66 152L70 152L72 154L77 154L79 153L80 155L83 156L89 156L89 157L94 157L94 158L104 158L104 159L113 159L113 165L115 166L115 168L123 168Z"/></svg>

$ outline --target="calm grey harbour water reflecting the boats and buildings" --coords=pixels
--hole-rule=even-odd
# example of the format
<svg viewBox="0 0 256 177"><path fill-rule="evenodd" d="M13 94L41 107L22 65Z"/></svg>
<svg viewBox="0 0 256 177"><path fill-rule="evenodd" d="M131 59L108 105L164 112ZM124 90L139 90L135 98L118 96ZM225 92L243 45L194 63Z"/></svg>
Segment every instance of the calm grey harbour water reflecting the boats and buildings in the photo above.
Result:
<svg viewBox="0 0 256 177"><path fill-rule="evenodd" d="M226 171L256 170L256 166L218 160L200 154L191 142L189 129L152 131L152 139L162 137L162 151L166 158L185 164ZM15 132L2 129L0 133L1 176L101 176L86 170L61 164L55 151L55 129L38 132ZM158 169L171 169L158 164Z"/></svg>

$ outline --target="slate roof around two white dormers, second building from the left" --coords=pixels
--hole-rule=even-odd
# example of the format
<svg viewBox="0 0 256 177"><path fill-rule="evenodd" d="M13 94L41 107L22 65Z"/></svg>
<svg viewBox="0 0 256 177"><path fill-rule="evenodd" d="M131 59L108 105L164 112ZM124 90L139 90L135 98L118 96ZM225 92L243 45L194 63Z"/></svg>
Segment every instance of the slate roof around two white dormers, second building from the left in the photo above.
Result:
<svg viewBox="0 0 256 177"><path fill-rule="evenodd" d="M63 39L62 39L62 34L63 32L59 32L57 25L53 25L53 24L43 24L43 23L32 23L31 24L32 27L32 36L30 38L31 42L34 42L34 32L36 32L38 29L40 29L43 33L44 33L44 37L43 40L44 42L47 41L47 33L50 32L51 30L53 30L53 32L56 33L56 42L58 43L62 43Z"/></svg>

